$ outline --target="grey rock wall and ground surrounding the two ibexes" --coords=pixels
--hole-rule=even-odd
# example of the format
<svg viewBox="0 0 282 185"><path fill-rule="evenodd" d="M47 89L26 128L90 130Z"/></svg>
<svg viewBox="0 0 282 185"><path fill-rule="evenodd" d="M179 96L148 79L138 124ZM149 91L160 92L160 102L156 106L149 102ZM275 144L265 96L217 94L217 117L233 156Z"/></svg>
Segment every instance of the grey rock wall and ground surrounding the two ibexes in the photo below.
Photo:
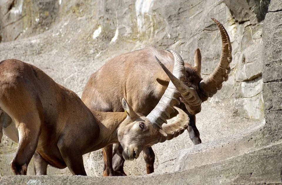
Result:
<svg viewBox="0 0 282 185"><path fill-rule="evenodd" d="M196 116L202 144L193 146L186 132L153 146L153 177L168 184L180 184L183 176L190 179L183 184L281 181L282 5L272 0L266 14L268 4L268 0L5 0L0 4L0 60L16 58L36 65L81 96L90 74L114 56L154 46L176 50L194 65L194 50L199 47L205 78L221 54L219 30L209 18L214 17L223 23L232 43L229 80ZM2 138L1 176L12 174L9 162L16 146ZM88 175L102 175L100 150L83 158ZM125 172L144 175L142 157L126 162ZM62 173L70 174L68 169L48 167L48 174ZM32 163L28 174L34 174ZM144 177L144 182L151 181L151 175ZM2 177L1 184L8 178ZM46 182L44 178L39 181ZM67 179L84 181L80 178ZM134 184L136 178L113 178L113 182Z"/></svg>

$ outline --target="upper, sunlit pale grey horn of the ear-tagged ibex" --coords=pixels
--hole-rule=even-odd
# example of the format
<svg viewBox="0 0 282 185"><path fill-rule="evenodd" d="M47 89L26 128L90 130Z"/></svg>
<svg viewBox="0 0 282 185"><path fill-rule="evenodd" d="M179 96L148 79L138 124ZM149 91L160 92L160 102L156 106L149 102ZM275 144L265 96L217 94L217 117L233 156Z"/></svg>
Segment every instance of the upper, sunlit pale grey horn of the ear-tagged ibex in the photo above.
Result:
<svg viewBox="0 0 282 185"><path fill-rule="evenodd" d="M186 69L184 67L184 62L181 56L173 50L168 50L168 51L172 53L173 58L174 58L173 76L177 79L184 78ZM156 56L155 58L157 59ZM160 62L160 60L157 59L157 61L159 62L161 67L164 67L165 69L167 69L162 64L162 62ZM175 88L173 83L170 81L159 103L146 116L146 118L148 118L148 120L150 120L151 123L157 124L160 128L162 128L162 124L167 123L167 119L169 119L169 114L174 111L173 106L175 106L176 104L179 104L179 101L176 99L179 96L176 96L176 94L177 94L177 89Z"/></svg>

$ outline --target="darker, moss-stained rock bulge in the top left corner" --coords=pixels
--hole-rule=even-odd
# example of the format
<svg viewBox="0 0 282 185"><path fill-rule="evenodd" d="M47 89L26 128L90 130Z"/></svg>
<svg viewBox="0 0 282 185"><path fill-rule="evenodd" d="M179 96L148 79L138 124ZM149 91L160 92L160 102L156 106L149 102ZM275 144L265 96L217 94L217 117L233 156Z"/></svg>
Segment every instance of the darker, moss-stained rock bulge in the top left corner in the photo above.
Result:
<svg viewBox="0 0 282 185"><path fill-rule="evenodd" d="M58 1L2 0L0 9L0 41L6 42L48 30L58 16Z"/></svg>

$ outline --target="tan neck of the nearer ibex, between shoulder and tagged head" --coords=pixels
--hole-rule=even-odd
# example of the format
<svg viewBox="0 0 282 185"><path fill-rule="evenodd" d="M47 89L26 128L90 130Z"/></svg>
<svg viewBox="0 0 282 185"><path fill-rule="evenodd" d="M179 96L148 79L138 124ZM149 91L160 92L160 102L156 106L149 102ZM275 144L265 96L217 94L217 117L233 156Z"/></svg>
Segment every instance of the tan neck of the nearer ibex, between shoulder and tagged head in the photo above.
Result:
<svg viewBox="0 0 282 185"><path fill-rule="evenodd" d="M98 140L95 142L98 144L96 147L100 149L109 144L117 143L117 130L127 114L123 112L91 112L97 118L100 128Z"/></svg>

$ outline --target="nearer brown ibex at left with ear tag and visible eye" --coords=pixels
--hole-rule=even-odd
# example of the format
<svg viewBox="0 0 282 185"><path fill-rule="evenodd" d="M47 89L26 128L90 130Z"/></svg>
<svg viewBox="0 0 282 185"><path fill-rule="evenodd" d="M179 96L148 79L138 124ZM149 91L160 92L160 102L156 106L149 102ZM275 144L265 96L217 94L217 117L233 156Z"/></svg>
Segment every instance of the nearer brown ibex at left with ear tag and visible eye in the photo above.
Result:
<svg viewBox="0 0 282 185"><path fill-rule="evenodd" d="M172 53L173 74L180 79L184 63L177 53ZM189 118L176 107L181 116L172 125L162 127L179 103L175 99L178 94L170 82L160 103L147 117L135 113L125 99L119 103L126 113L90 111L73 91L37 67L15 59L4 60L0 62L0 136L3 130L19 143L10 163L14 174L26 174L34 155L36 174L46 174L49 164L86 175L83 154L120 143L122 156L134 159L144 147L183 133Z"/></svg>

